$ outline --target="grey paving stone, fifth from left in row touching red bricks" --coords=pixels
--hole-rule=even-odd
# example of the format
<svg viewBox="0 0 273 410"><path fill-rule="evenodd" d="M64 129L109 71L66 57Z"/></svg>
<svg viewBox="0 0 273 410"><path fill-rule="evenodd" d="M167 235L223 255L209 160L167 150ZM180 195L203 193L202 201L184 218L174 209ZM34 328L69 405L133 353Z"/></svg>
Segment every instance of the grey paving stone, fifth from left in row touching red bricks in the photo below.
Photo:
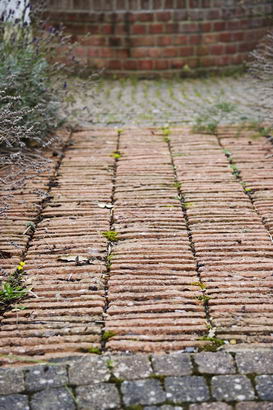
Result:
<svg viewBox="0 0 273 410"><path fill-rule="evenodd" d="M155 374L165 376L186 376L192 374L192 363L189 354L171 353L152 356Z"/></svg>

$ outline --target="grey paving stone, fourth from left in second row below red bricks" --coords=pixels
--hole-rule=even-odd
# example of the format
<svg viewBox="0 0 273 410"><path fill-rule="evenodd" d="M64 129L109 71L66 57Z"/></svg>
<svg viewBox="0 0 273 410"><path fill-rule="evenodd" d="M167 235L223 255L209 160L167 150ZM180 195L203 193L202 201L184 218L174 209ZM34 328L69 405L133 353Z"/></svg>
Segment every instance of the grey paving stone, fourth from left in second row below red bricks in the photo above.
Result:
<svg viewBox="0 0 273 410"><path fill-rule="evenodd" d="M157 404L166 399L159 380L125 381L121 384L123 401L126 406L134 404Z"/></svg>

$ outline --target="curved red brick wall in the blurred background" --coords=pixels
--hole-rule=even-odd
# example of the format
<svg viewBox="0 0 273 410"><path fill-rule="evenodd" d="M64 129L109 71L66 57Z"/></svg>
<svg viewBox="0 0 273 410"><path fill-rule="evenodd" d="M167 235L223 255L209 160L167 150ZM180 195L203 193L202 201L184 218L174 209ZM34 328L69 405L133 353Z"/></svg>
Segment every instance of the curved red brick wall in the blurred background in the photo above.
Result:
<svg viewBox="0 0 273 410"><path fill-rule="evenodd" d="M48 10L91 67L172 74L242 64L272 26L273 1L48 0Z"/></svg>

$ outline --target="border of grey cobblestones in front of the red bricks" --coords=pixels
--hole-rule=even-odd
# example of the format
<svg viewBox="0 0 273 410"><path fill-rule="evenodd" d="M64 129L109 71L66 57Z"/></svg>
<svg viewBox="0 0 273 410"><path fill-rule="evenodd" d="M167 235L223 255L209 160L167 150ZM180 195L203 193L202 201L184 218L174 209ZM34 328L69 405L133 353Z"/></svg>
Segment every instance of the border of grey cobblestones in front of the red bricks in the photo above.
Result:
<svg viewBox="0 0 273 410"><path fill-rule="evenodd" d="M0 369L5 410L270 410L273 350L84 355Z"/></svg>

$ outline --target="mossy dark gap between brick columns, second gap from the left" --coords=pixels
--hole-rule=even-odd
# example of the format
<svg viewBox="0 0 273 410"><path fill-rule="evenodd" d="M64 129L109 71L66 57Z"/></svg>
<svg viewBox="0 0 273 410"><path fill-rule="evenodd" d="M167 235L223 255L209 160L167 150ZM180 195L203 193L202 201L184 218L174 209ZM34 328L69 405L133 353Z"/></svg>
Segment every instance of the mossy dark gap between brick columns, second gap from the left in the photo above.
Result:
<svg viewBox="0 0 273 410"><path fill-rule="evenodd" d="M120 136L121 136L122 131L118 130L117 131L117 144L116 144L116 150L115 153L118 154L116 155L115 161L114 161L114 166L113 166L113 177L112 177L112 194L111 194L111 205L112 208L110 209L110 221L109 221L109 231L115 231L114 227L114 203L115 203L115 193L116 193L116 179L117 179L117 168L118 168L118 161L119 161L119 149L120 149ZM105 266L106 266L106 274L104 276L104 307L103 307L103 316L102 316L102 330L101 330L101 351L105 352L106 351L106 343L108 341L108 335L105 332L105 321L107 317L107 311L109 308L109 298L108 298L108 291L109 291L109 278L110 278L110 273L111 273L111 256L112 256L112 251L113 251L113 246L114 242L111 242L108 240L107 243L107 249L106 249L106 260L105 260Z"/></svg>

